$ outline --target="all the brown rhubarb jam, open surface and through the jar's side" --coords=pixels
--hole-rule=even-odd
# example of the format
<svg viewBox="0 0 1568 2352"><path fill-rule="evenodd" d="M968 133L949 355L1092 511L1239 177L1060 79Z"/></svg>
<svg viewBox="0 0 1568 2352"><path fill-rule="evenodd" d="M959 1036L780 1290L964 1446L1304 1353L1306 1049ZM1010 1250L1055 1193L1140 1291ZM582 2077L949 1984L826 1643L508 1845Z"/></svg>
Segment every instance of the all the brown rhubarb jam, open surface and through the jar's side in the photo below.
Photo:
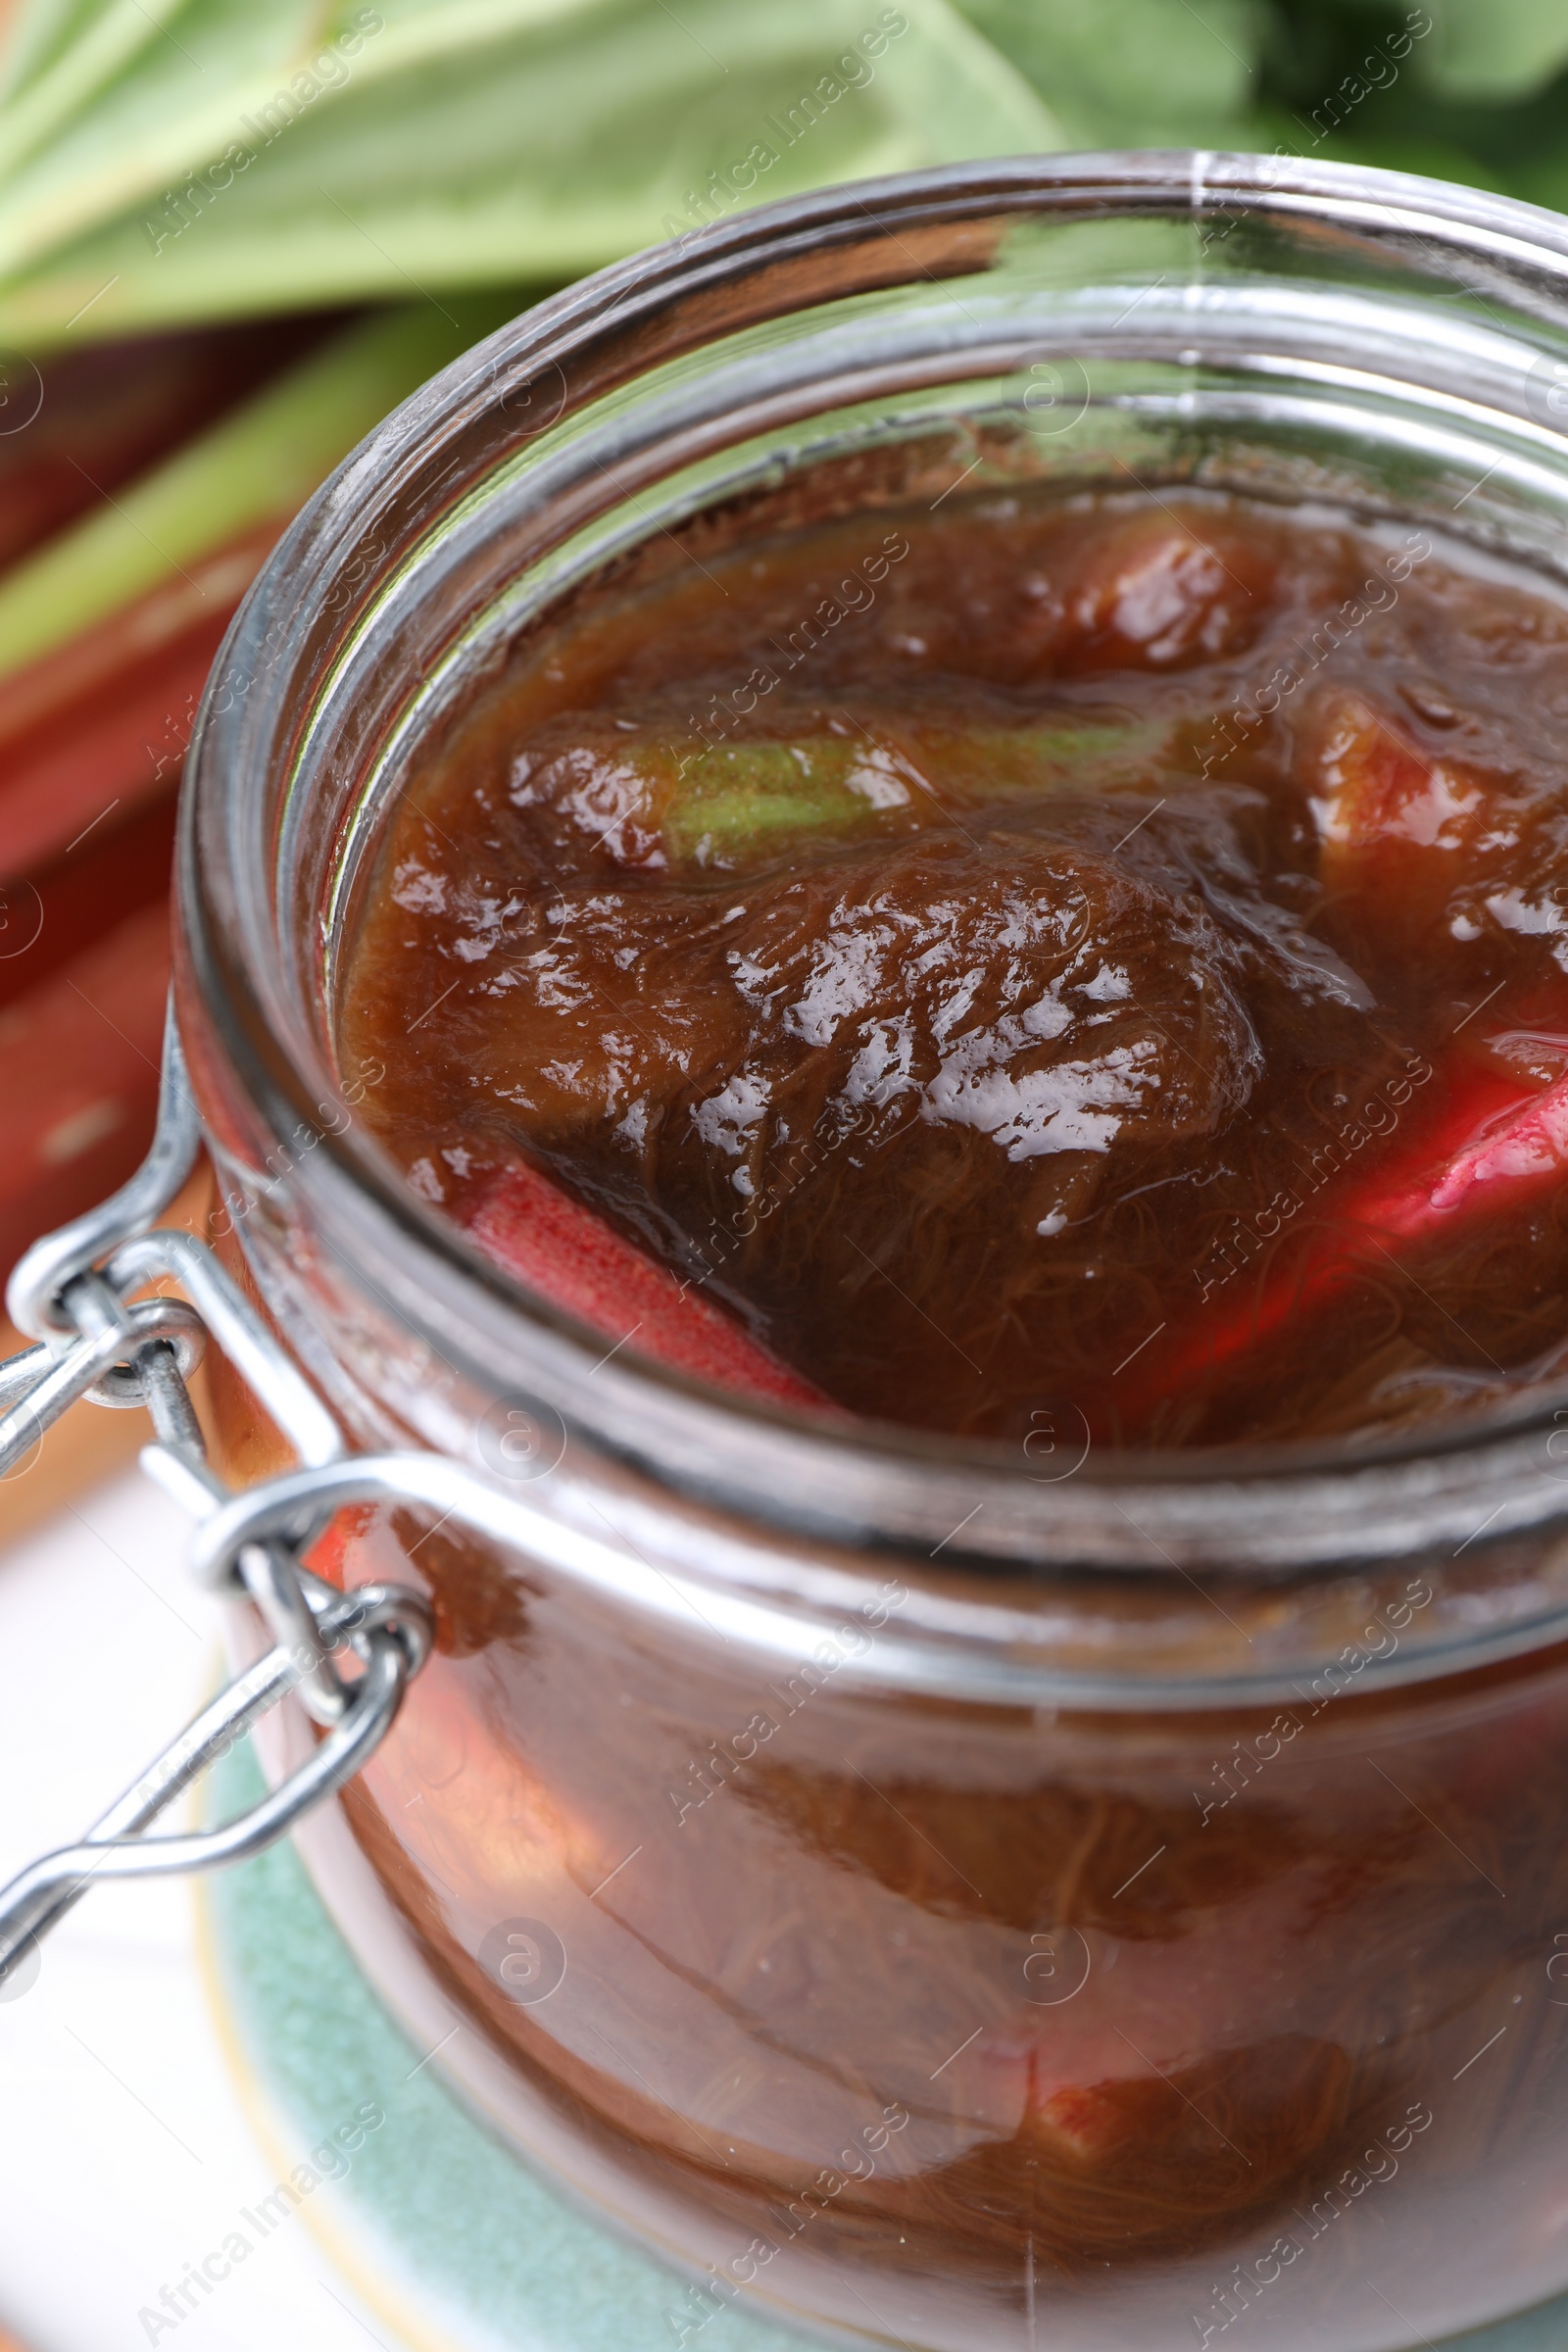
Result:
<svg viewBox="0 0 1568 2352"><path fill-rule="evenodd" d="M1194 1446L1542 1378L1568 612L1187 492L764 524L433 724L341 990L409 1183L604 1355L835 1437L1032 1465L1063 1404ZM447 1522L329 1541L437 1606L348 1813L447 2063L698 2272L677 2347L755 2288L943 2352L1375 2352L1568 2281L1568 1665L1389 1686L1509 1578L1544 1623L1554 1538L889 1552L783 1665ZM931 1590L1025 1656L1180 1639L1197 1698L877 1682Z"/></svg>

